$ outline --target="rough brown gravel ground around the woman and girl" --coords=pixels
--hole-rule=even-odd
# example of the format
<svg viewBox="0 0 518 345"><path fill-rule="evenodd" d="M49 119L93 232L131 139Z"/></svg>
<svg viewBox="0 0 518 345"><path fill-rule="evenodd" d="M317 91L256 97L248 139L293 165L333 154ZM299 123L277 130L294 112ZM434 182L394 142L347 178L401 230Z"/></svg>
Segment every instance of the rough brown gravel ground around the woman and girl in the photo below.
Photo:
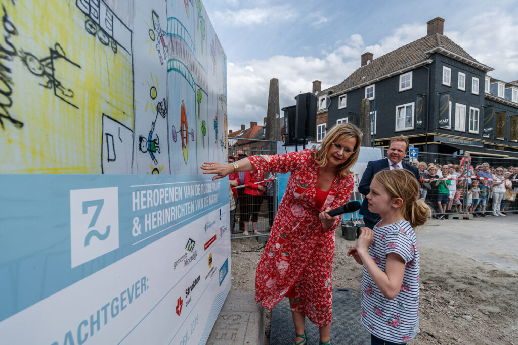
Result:
<svg viewBox="0 0 518 345"><path fill-rule="evenodd" d="M518 215L512 217L516 218L514 221L518 220ZM511 217L508 218L511 222ZM455 224L455 221L465 220L450 220L444 224ZM424 228L426 231L426 226ZM353 245L355 242L346 241L341 230L336 230L334 288L359 290L362 267L346 256ZM483 246L483 243L479 245ZM242 238L234 239L231 247L232 290L254 292L255 268L263 245L255 238ZM515 314L518 310L518 272L498 269L495 265L440 249L443 248L434 248L430 241L426 241L426 246L420 244L420 332L410 344L518 345ZM514 256L514 253L509 254ZM265 345L269 344L271 311L268 309L266 318Z"/></svg>

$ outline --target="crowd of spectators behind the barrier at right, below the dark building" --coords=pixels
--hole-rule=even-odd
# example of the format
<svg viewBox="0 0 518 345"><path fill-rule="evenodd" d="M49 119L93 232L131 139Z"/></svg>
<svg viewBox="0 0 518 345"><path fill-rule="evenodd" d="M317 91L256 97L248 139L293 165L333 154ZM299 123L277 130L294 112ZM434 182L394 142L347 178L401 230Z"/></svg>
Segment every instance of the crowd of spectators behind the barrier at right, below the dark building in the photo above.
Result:
<svg viewBox="0 0 518 345"><path fill-rule="evenodd" d="M413 159L412 165L421 175L419 197L434 209L435 218L464 211L476 217L503 217L518 209L513 200L518 192L518 168L491 167L487 162L473 166L469 154L459 164Z"/></svg>

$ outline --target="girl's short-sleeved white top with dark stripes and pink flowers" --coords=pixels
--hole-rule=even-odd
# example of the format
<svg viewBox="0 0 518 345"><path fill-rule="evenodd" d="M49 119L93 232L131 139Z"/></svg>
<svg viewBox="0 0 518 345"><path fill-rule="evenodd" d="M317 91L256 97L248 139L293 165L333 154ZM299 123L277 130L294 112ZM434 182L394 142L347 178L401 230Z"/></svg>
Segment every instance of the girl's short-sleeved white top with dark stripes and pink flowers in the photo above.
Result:
<svg viewBox="0 0 518 345"><path fill-rule="evenodd" d="M382 228L374 227L369 254L385 271L386 256L394 252L405 260L401 290L394 299L387 299L369 276L362 272L362 324L371 334L386 341L405 343L412 340L419 328L419 249L415 233L408 221L399 221Z"/></svg>

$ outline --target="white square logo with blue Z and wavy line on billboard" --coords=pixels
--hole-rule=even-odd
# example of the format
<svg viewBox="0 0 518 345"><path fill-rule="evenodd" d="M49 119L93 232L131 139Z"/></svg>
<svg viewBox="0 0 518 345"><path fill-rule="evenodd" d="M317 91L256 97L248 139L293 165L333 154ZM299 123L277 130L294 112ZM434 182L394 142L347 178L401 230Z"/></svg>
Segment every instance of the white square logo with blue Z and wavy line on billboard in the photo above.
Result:
<svg viewBox="0 0 518 345"><path fill-rule="evenodd" d="M119 248L119 189L70 190L71 267Z"/></svg>

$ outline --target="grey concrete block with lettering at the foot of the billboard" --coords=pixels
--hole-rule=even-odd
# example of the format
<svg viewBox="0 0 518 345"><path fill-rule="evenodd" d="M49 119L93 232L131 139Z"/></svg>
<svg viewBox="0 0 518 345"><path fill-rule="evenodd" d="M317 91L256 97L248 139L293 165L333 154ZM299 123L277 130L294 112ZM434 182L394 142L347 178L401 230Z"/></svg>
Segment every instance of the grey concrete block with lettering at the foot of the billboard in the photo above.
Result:
<svg viewBox="0 0 518 345"><path fill-rule="evenodd" d="M263 345L264 307L253 292L229 292L212 332L209 345Z"/></svg>

